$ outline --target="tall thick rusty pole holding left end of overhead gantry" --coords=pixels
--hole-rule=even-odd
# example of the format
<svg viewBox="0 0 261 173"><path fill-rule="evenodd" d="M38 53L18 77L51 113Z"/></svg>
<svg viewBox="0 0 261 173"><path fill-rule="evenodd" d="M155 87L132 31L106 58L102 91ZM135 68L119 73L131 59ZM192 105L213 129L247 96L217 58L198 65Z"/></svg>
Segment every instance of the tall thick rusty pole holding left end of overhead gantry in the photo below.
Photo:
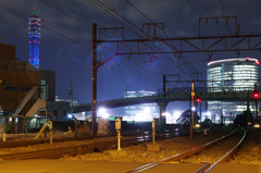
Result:
<svg viewBox="0 0 261 173"><path fill-rule="evenodd" d="M97 24L91 25L91 134L97 133Z"/></svg>

